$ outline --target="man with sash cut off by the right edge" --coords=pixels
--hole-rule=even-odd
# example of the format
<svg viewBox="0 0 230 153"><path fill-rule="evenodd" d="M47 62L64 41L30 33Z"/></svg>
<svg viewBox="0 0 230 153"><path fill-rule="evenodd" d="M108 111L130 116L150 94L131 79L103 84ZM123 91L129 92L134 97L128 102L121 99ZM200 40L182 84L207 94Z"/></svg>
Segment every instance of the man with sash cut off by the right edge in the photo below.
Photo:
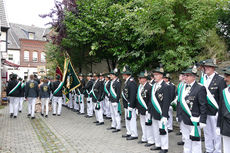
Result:
<svg viewBox="0 0 230 153"><path fill-rule="evenodd" d="M222 91L222 98L219 103L219 116L217 126L220 128L216 131L217 135L223 137L223 152L230 152L230 67L224 69L224 80L227 87Z"/></svg>

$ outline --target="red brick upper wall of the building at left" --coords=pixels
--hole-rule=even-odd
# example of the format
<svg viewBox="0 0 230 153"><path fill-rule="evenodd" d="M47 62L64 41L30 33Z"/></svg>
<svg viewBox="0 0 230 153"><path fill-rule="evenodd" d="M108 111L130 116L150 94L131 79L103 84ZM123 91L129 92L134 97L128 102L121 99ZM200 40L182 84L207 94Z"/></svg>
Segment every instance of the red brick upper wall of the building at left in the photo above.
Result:
<svg viewBox="0 0 230 153"><path fill-rule="evenodd" d="M41 62L41 53L45 51L46 41L20 39L21 54L20 66L22 67L37 67L45 66L46 62ZM24 61L24 51L29 51L29 61ZM33 52L38 53L38 61L33 62Z"/></svg>

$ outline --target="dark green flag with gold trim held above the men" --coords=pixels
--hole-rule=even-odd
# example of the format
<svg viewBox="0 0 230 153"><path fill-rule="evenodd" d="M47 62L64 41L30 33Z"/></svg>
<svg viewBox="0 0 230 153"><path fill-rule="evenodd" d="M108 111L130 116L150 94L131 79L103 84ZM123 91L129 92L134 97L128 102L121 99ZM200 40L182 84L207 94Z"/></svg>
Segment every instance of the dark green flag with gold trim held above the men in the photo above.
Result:
<svg viewBox="0 0 230 153"><path fill-rule="evenodd" d="M69 92L81 85L81 82L73 68L70 59L65 59L64 63L64 75L63 75L63 86L65 88L64 94L66 96L66 102L69 101Z"/></svg>

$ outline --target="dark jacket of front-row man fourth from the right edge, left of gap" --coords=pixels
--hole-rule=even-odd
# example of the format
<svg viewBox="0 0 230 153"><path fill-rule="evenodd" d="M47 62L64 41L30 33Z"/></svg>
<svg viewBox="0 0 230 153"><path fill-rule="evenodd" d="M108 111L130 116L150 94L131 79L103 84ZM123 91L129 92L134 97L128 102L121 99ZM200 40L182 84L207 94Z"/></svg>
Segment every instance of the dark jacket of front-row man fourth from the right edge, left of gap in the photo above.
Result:
<svg viewBox="0 0 230 153"><path fill-rule="evenodd" d="M152 88L154 88L154 85ZM158 103L160 104L162 110L162 116L168 118L169 117L168 111L170 106L170 93L169 93L169 86L164 81L162 81L161 87L156 90L155 96L156 99L158 100ZM149 113L153 116L155 120L160 120L161 116L154 108L151 98L149 100L149 106L150 106Z"/></svg>

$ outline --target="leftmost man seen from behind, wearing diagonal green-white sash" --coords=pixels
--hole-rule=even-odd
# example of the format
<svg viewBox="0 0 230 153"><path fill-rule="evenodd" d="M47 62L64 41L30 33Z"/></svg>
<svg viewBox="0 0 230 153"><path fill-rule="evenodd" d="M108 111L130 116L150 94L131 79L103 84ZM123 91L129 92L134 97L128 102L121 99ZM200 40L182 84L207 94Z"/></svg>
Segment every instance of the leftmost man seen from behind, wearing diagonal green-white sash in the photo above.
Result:
<svg viewBox="0 0 230 153"><path fill-rule="evenodd" d="M10 117L17 118L18 115L18 103L20 100L21 93L21 82L17 80L17 75L13 74L11 80L6 88L7 96L10 99Z"/></svg>

